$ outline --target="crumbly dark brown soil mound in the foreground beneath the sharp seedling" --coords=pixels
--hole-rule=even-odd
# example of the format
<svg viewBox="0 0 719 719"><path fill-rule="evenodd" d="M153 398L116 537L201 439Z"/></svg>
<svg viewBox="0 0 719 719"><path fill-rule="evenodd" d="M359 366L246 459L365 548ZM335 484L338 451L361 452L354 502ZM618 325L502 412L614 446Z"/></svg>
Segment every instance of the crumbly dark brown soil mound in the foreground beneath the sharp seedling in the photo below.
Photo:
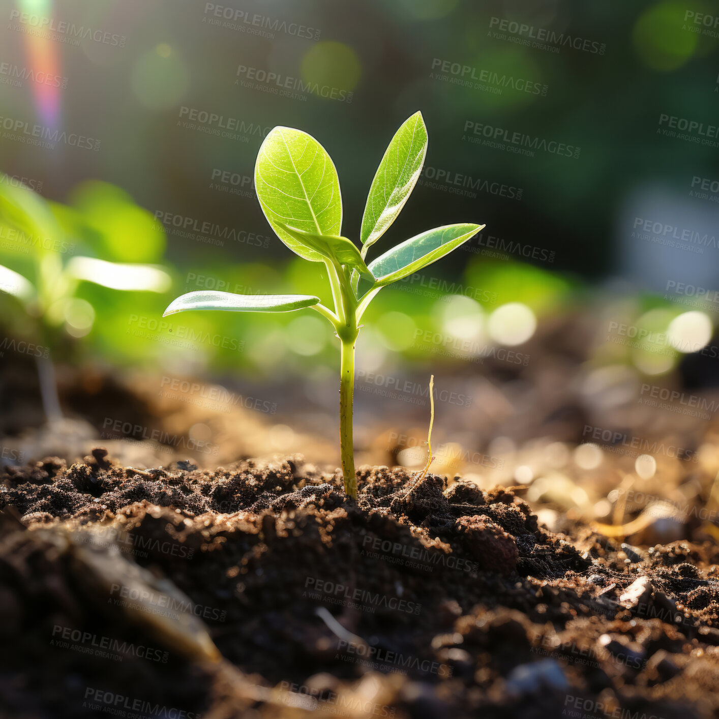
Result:
<svg viewBox="0 0 719 719"><path fill-rule="evenodd" d="M0 715L719 714L715 545L551 533L521 488L358 486L299 457L10 468Z"/></svg>

